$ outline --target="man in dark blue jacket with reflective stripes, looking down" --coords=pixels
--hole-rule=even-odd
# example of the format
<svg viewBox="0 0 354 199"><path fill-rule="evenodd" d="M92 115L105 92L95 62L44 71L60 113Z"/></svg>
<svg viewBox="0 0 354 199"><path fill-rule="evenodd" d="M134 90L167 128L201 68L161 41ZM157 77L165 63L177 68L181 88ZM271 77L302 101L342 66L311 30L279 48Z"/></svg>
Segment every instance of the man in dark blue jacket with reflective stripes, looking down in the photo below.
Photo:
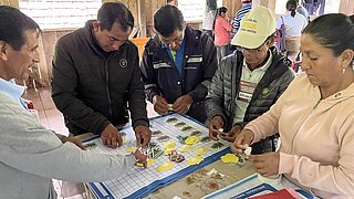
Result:
<svg viewBox="0 0 354 199"><path fill-rule="evenodd" d="M140 67L148 100L160 115L175 111L206 122L205 97L217 69L212 40L169 4L155 13L154 24L157 35L147 42Z"/></svg>

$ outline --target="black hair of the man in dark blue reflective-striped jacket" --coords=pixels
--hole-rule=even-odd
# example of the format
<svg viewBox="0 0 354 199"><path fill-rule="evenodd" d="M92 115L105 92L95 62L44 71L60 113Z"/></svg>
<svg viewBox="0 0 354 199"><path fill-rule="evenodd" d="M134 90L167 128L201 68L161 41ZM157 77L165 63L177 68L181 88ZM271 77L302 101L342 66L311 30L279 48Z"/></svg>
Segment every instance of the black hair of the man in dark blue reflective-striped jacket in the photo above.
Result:
<svg viewBox="0 0 354 199"><path fill-rule="evenodd" d="M154 28L163 36L169 36L176 30L183 31L184 27L185 19L177 7L165 4L154 14Z"/></svg>

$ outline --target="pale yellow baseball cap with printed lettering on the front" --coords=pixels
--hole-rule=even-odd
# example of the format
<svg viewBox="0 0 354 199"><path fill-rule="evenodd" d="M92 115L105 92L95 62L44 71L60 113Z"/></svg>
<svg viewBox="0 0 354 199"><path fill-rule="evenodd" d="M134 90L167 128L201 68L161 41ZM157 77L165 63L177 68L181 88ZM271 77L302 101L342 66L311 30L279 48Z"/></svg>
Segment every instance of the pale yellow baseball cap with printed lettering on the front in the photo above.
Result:
<svg viewBox="0 0 354 199"><path fill-rule="evenodd" d="M246 49L259 48L269 35L275 32L275 15L266 7L252 8L241 20L240 29L231 44Z"/></svg>

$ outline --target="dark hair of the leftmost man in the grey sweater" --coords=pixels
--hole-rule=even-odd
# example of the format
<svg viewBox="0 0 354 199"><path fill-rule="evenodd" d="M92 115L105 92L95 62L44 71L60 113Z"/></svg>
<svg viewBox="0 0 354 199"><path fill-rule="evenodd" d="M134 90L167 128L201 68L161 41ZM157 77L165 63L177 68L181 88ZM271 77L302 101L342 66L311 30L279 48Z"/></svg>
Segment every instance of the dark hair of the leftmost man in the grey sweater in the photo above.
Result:
<svg viewBox="0 0 354 199"><path fill-rule="evenodd" d="M8 6L0 6L0 41L7 42L15 51L20 51L27 42L25 31L34 31L38 36L42 32L35 21Z"/></svg>

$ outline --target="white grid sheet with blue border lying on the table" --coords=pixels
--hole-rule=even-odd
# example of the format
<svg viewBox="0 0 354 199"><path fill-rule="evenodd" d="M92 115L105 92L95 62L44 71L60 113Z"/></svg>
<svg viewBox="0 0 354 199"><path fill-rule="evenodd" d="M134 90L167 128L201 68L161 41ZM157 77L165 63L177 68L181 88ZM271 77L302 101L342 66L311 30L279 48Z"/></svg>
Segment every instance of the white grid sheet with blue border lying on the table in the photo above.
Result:
<svg viewBox="0 0 354 199"><path fill-rule="evenodd" d="M184 124L184 125L181 125ZM189 126L189 127L188 127ZM191 128L190 128L191 127ZM194 119L181 116L179 114L169 114L165 116L158 116L156 118L150 119L150 129L153 132L152 143L156 143L163 148L163 145L167 140L160 140L162 136L168 136L168 140L174 140L176 143L176 149L179 153L179 147L183 144L178 140L177 136L180 135L183 137L190 136L194 132L200 132L199 139L208 136L208 128L200 125L198 122ZM135 146L135 134L133 128L129 126L119 130L124 132L126 135L124 138L128 139L128 142L119 148L112 149L105 147L101 138L96 138L88 143L95 143L96 147L93 147L92 151L101 153L101 154L117 154L125 155L126 148L129 146ZM156 134L156 132L160 132ZM181 163L175 163L174 168L167 171L157 171L156 168L158 165L168 161L168 156L162 155L155 159L155 163L147 167L146 169L142 167L134 166L128 172L126 172L123 177L114 180L108 180L104 182L90 182L88 187L96 195L97 198L140 198L146 196L147 193L154 191L155 189L166 186L173 181L176 181L184 176L191 174L199 168L211 164L215 160L218 160L220 156L225 155L229 151L229 143L226 140L219 140L223 146L220 148L211 148L211 146L217 143L214 140L207 143L197 143L195 144L195 148L188 153L179 153L185 156L185 160ZM86 144L86 143L85 143ZM198 147L207 147L208 151L204 157L204 161L199 165L189 166L187 160L190 157L195 156L195 150Z"/></svg>

